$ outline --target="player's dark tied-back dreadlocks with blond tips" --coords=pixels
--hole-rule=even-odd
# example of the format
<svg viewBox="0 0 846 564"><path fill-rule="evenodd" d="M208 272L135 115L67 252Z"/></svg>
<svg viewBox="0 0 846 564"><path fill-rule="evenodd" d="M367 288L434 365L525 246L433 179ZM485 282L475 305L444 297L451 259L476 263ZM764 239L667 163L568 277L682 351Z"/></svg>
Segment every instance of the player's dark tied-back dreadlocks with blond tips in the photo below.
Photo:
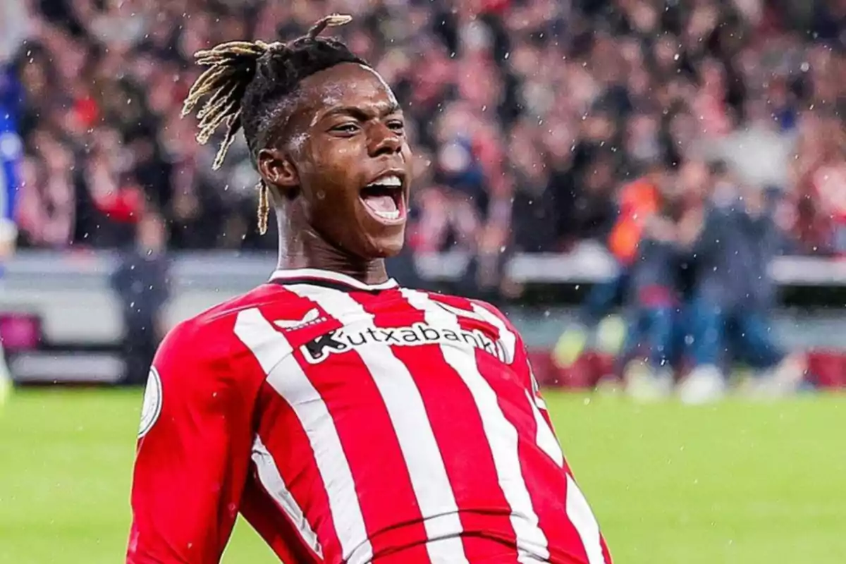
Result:
<svg viewBox="0 0 846 564"><path fill-rule="evenodd" d="M318 37L327 27L344 25L351 19L340 14L326 16L305 36L288 43L230 41L195 52L197 64L209 68L191 86L182 115L188 115L207 96L197 112L200 120L197 142L201 145L205 145L217 128L226 123L226 136L217 150L212 168L221 166L240 129L244 129L255 164L258 151L272 139L273 134L279 133L278 128L272 127L279 102L294 93L300 80L338 63L367 64L342 41ZM259 231L263 234L267 230L270 204L266 183L261 180L257 188Z"/></svg>

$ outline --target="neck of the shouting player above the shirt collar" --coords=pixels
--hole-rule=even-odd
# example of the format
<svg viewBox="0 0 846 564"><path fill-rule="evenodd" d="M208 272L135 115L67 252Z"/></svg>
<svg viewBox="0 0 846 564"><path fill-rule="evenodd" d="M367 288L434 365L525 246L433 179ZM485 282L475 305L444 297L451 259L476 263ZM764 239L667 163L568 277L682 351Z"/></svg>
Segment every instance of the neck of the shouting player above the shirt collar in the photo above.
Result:
<svg viewBox="0 0 846 564"><path fill-rule="evenodd" d="M345 274L365 284L387 281L385 260L349 255L337 245L327 242L312 227L291 221L283 212L277 212L277 217L280 218L279 269L316 268Z"/></svg>

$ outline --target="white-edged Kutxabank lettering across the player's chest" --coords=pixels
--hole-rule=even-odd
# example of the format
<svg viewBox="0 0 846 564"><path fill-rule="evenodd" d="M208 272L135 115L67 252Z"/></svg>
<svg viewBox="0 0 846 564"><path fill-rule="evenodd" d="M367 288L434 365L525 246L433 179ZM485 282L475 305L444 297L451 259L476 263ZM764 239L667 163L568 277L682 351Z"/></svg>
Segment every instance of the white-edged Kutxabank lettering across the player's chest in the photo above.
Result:
<svg viewBox="0 0 846 564"><path fill-rule="evenodd" d="M478 329L464 330L415 323L405 327L367 327L358 331L349 328L329 331L306 342L299 349L310 364L318 364L334 353L346 353L357 347L382 344L394 347L416 347L428 344L447 344L479 348L505 362L501 342Z"/></svg>

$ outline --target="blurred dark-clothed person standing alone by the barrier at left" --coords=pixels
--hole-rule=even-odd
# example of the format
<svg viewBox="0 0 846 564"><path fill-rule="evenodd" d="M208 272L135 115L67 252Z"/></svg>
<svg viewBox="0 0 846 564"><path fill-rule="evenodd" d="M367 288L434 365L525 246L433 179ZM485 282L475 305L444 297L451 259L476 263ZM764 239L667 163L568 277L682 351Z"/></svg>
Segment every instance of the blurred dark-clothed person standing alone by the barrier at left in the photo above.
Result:
<svg viewBox="0 0 846 564"><path fill-rule="evenodd" d="M146 212L137 225L135 247L121 254L112 275L124 313L124 383L143 384L167 326L170 298L167 229L162 216Z"/></svg>

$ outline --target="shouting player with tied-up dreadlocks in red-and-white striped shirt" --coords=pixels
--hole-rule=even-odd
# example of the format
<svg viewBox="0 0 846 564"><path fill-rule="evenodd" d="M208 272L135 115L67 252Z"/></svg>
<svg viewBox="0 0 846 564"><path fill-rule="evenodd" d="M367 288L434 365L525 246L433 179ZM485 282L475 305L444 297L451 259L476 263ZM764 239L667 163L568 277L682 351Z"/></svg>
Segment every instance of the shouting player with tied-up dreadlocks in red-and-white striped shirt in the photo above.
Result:
<svg viewBox="0 0 846 564"><path fill-rule="evenodd" d="M411 153L384 80L328 16L232 42L185 111L244 129L286 249L269 282L177 326L147 384L132 564L219 561L236 515L281 561L611 561L519 334L487 304L398 287Z"/></svg>

